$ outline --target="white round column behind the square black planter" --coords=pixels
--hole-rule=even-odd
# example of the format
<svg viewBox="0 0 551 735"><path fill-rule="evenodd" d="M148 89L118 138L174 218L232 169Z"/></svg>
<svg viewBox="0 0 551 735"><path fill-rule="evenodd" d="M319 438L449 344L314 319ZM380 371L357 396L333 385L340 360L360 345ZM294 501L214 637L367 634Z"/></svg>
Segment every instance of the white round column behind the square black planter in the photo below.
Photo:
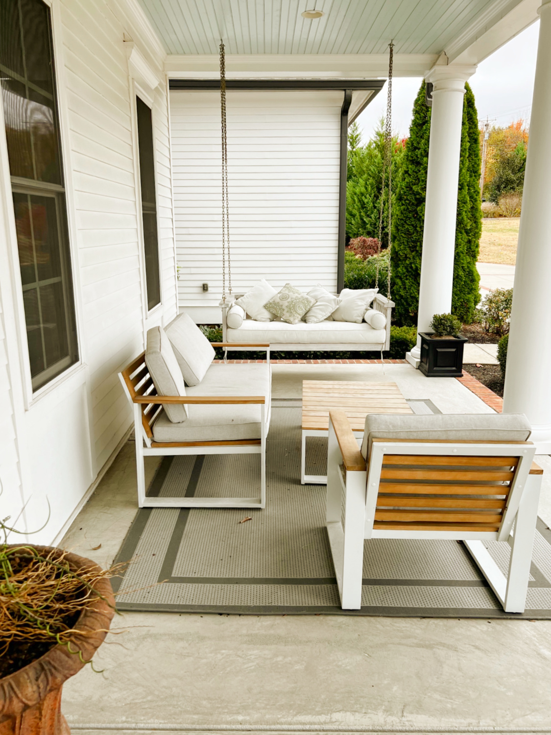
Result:
<svg viewBox="0 0 551 735"><path fill-rule="evenodd" d="M452 305L463 98L465 82L474 71L473 66L442 65L425 77L434 86L417 331L428 331L433 315L450 312ZM417 337L417 345L406 355L415 367L420 343Z"/></svg>

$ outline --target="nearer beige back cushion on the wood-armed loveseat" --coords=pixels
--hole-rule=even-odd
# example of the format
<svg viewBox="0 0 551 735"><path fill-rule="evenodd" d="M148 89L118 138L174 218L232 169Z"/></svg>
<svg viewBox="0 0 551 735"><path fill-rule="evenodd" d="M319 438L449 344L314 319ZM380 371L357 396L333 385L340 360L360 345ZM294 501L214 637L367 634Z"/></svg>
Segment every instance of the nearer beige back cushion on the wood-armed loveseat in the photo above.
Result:
<svg viewBox="0 0 551 735"><path fill-rule="evenodd" d="M176 356L165 330L161 326L148 329L145 365L159 395L186 395L186 387ZM187 406L164 404L166 415L173 423L187 419Z"/></svg>

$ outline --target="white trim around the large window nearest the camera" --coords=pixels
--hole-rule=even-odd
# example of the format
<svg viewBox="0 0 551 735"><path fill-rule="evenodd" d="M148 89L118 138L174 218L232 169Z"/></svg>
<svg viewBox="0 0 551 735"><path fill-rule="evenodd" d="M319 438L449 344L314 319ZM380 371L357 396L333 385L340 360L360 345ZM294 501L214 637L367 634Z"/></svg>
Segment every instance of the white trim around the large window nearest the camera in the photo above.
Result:
<svg viewBox="0 0 551 735"><path fill-rule="evenodd" d="M55 85L57 93L57 113L60 128L60 147L62 157L63 180L65 184L65 209L67 211L68 248L71 259L71 279L73 282L73 304L75 309L76 343L79 351L79 359L63 370L60 375L48 381L37 390L32 389L31 365L29 359L29 343L26 336L25 309L23 301L23 286L21 283L21 270L19 268L19 254L17 243L17 231L15 228L15 212L11 198L12 184L10 177L10 163L7 157L7 143L4 133L4 113L0 105L0 175L4 179L4 196L9 195L10 201L4 202L7 211L7 250L10 259L9 270L12 287L12 303L15 312L15 326L18 337L19 365L21 369L21 384L23 389L24 409L34 406L43 395L55 390L65 381L71 381L75 373L82 376L82 383L87 379L87 370L82 370L85 363L84 340L82 339L82 304L80 300L80 268L79 253L76 246L77 229L75 223L75 204L73 196L73 177L71 166L71 140L69 137L68 107L65 94L65 60L62 46L62 21L60 15L59 0L42 0L50 10L52 54L54 57ZM9 184L9 186L8 186Z"/></svg>

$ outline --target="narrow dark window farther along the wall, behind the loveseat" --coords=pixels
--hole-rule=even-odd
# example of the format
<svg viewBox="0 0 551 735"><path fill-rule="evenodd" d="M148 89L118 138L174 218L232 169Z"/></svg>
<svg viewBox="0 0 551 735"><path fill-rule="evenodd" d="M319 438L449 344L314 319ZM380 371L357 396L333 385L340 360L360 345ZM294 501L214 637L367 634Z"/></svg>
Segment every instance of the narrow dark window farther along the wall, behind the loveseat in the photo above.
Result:
<svg viewBox="0 0 551 735"><path fill-rule="evenodd" d="M136 98L140 188L142 196L143 247L145 251L145 288L148 311L161 303L159 274L159 242L157 240L157 207L155 198L155 160L153 155L153 123L151 110Z"/></svg>

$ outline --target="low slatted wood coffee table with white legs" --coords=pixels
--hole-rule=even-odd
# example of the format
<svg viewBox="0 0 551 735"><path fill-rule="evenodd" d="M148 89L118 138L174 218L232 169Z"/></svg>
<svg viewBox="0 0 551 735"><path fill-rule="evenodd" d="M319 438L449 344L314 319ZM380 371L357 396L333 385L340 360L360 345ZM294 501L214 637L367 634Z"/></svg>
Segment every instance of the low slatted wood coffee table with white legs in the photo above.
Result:
<svg viewBox="0 0 551 735"><path fill-rule="evenodd" d="M303 380L300 482L327 484L326 475L306 475L306 437L327 437L329 412L344 411L356 439L364 436L368 413L412 414L396 383Z"/></svg>

